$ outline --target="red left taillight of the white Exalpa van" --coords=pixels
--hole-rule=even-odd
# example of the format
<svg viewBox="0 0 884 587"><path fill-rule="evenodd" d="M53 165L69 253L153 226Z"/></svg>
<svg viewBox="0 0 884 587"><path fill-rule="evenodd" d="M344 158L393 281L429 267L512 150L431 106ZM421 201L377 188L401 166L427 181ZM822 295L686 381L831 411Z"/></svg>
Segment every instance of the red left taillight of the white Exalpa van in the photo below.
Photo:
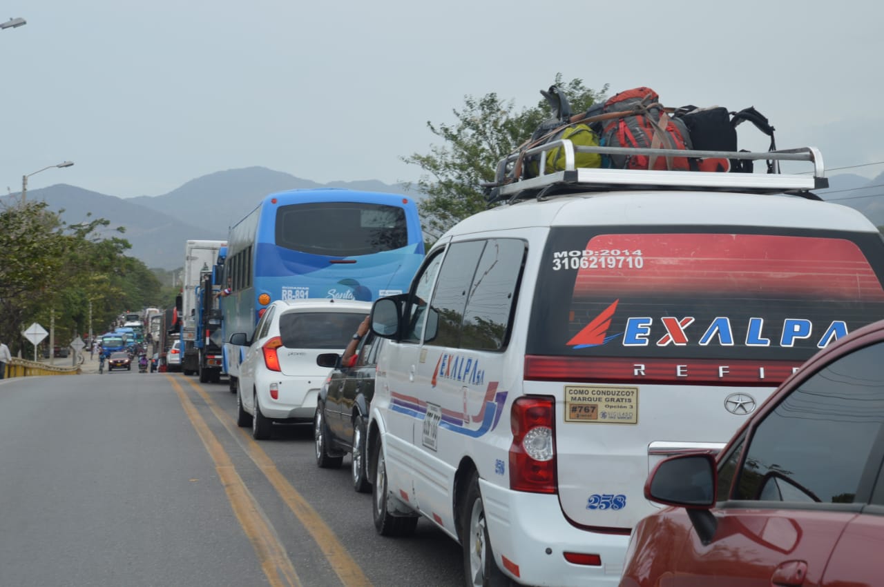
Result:
<svg viewBox="0 0 884 587"><path fill-rule="evenodd" d="M510 412L509 486L514 491L557 493L555 412L552 397L520 397Z"/></svg>

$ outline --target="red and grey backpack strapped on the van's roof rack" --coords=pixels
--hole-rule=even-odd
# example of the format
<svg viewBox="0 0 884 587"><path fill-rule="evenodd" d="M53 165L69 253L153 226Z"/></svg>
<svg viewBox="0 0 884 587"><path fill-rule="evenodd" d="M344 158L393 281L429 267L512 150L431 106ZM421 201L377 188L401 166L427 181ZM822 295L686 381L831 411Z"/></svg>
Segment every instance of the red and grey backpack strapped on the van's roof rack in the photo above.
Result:
<svg viewBox="0 0 884 587"><path fill-rule="evenodd" d="M688 129L667 115L659 95L650 87L636 87L605 102L602 114L622 113L603 123L600 144L605 147L690 149ZM605 167L615 169L690 170L687 157L657 155L606 155Z"/></svg>

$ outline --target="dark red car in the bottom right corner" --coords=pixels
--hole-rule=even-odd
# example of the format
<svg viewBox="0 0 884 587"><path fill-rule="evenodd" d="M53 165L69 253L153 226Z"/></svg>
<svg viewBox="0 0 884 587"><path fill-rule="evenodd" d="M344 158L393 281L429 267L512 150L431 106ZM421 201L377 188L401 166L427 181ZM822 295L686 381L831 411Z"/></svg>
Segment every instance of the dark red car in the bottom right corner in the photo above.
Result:
<svg viewBox="0 0 884 587"><path fill-rule="evenodd" d="M662 461L621 587L884 585L884 320L785 380L719 455Z"/></svg>

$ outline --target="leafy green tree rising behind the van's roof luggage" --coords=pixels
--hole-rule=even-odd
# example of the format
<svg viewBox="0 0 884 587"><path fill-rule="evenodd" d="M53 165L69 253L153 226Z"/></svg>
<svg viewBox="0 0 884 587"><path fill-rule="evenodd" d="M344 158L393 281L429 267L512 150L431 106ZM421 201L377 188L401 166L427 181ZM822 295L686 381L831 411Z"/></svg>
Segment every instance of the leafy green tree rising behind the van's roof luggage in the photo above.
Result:
<svg viewBox="0 0 884 587"><path fill-rule="evenodd" d="M557 74L554 84L568 97L572 112L583 112L602 99L601 90L583 86L583 80L562 83ZM455 223L487 208L480 184L494 180L499 160L513 153L546 118L549 105L541 100L531 108L517 109L495 93L482 98L464 97L464 106L453 109L453 124L427 123L441 145L431 146L429 154L412 154L402 161L418 165L423 174L413 185L425 197L419 207L423 230L435 240Z"/></svg>

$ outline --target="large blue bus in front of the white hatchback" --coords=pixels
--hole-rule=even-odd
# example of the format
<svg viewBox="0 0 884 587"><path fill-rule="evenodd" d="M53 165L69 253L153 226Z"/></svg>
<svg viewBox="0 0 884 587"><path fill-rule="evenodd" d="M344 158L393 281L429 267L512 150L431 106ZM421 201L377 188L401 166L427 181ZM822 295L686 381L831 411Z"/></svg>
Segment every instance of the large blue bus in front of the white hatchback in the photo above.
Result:
<svg viewBox="0 0 884 587"><path fill-rule="evenodd" d="M373 301L408 291L423 252L413 199L339 189L266 196L227 237L221 312L223 371L231 391L246 348L231 345L230 336L251 335L271 302Z"/></svg>

